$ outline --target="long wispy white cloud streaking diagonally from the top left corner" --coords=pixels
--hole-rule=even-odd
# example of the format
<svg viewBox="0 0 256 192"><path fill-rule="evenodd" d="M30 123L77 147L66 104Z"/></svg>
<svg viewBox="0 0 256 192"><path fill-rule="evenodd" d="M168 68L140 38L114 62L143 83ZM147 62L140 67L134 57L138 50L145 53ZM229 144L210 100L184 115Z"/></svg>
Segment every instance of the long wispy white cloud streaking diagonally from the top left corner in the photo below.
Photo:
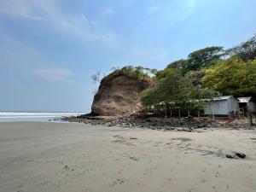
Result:
<svg viewBox="0 0 256 192"><path fill-rule="evenodd" d="M112 13L106 9L104 15ZM9 0L0 1L0 13L25 20L48 23L58 33L79 38L80 41L94 41L117 47L117 35L108 29L95 25L95 20L88 20L84 13L67 13L58 0Z"/></svg>

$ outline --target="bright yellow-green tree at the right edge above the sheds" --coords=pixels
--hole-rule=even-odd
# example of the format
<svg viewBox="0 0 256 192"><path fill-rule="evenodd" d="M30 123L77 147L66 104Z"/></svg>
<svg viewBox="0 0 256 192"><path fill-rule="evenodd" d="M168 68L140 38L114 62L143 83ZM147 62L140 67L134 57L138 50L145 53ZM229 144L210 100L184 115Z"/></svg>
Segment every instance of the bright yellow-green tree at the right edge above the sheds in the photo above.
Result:
<svg viewBox="0 0 256 192"><path fill-rule="evenodd" d="M234 56L221 61L207 69L202 83L223 95L253 95L256 93L256 60L245 62Z"/></svg>

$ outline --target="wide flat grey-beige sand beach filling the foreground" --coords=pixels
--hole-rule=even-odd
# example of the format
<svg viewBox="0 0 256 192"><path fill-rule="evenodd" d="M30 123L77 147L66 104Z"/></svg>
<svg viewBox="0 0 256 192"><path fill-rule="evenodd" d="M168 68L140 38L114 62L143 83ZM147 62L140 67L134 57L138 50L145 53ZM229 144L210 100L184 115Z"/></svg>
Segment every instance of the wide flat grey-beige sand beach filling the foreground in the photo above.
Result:
<svg viewBox="0 0 256 192"><path fill-rule="evenodd" d="M255 149L256 131L0 123L0 191L255 192Z"/></svg>

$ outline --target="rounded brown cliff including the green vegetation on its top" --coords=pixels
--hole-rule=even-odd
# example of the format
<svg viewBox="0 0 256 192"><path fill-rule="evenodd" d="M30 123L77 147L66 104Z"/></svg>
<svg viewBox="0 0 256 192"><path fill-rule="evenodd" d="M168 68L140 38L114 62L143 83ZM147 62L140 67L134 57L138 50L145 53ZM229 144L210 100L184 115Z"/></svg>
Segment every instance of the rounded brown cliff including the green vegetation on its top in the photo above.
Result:
<svg viewBox="0 0 256 192"><path fill-rule="evenodd" d="M140 111L140 94L153 82L152 70L143 67L115 68L100 81L91 112L95 115L130 115ZM97 74L95 79L98 79Z"/></svg>

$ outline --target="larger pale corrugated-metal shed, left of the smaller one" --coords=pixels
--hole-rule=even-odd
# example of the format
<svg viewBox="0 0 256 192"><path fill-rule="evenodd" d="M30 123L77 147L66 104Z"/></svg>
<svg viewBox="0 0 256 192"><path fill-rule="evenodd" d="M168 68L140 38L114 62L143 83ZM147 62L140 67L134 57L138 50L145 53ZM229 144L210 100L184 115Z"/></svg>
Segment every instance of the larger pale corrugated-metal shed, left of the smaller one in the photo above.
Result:
<svg viewBox="0 0 256 192"><path fill-rule="evenodd" d="M205 114L229 115L238 111L239 103L234 96L218 96L205 105Z"/></svg>

